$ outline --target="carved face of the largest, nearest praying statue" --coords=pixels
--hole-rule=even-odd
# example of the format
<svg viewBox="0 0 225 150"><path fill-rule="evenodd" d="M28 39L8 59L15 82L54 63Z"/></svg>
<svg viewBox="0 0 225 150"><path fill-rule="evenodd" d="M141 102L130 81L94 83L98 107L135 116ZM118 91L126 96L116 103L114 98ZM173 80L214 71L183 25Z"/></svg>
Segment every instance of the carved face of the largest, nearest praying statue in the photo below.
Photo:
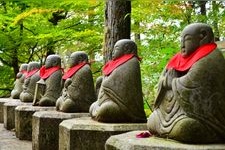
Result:
<svg viewBox="0 0 225 150"><path fill-rule="evenodd" d="M200 46L199 35L186 34L181 39L181 55L189 56Z"/></svg>

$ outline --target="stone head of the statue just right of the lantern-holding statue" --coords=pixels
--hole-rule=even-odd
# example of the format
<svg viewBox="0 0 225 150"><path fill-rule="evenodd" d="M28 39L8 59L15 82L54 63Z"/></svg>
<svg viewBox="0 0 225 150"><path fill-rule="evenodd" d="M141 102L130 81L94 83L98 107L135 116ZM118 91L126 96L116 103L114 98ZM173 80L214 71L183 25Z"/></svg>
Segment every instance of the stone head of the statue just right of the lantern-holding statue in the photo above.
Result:
<svg viewBox="0 0 225 150"><path fill-rule="evenodd" d="M70 55L69 67L73 67L81 62L88 62L88 55L83 51L76 51Z"/></svg>

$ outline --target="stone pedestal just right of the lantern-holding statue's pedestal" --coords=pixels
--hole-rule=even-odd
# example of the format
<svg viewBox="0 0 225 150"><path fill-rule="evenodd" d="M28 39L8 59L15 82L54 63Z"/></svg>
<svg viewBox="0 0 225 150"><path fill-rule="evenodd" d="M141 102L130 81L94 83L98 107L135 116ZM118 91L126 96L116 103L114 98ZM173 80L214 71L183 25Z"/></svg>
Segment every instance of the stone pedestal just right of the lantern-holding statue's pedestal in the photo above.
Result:
<svg viewBox="0 0 225 150"><path fill-rule="evenodd" d="M89 116L89 113L35 112L32 119L32 149L58 150L59 124L66 119L84 116Z"/></svg>

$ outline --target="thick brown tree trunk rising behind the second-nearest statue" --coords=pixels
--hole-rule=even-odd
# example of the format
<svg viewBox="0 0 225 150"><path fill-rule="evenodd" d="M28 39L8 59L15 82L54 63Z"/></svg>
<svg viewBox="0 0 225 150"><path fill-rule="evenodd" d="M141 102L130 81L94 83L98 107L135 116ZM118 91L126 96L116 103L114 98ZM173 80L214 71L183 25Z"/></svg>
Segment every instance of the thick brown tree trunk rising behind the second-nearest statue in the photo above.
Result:
<svg viewBox="0 0 225 150"><path fill-rule="evenodd" d="M105 6L105 39L103 54L105 63L112 58L116 41L130 39L131 1L108 0Z"/></svg>

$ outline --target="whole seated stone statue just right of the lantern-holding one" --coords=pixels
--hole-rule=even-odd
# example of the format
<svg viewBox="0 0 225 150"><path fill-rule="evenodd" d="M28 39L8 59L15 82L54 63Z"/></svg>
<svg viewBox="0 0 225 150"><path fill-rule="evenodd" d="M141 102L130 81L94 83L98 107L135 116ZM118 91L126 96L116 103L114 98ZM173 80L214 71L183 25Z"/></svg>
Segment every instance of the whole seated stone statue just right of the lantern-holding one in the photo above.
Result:
<svg viewBox="0 0 225 150"><path fill-rule="evenodd" d="M63 75L64 88L56 102L56 110L63 112L88 112L96 101L94 82L88 56L77 51L71 54L69 70Z"/></svg>

